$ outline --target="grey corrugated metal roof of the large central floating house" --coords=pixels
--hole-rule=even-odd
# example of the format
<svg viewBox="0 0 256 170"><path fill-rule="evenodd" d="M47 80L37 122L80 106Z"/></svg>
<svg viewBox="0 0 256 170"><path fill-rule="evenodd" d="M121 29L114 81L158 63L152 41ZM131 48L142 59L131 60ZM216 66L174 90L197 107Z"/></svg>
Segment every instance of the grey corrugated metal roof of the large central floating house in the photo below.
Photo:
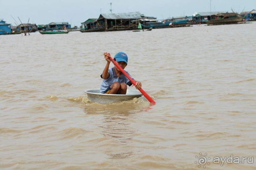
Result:
<svg viewBox="0 0 256 170"><path fill-rule="evenodd" d="M141 18L140 12L127 12L117 14L101 14L106 19L136 19Z"/></svg>

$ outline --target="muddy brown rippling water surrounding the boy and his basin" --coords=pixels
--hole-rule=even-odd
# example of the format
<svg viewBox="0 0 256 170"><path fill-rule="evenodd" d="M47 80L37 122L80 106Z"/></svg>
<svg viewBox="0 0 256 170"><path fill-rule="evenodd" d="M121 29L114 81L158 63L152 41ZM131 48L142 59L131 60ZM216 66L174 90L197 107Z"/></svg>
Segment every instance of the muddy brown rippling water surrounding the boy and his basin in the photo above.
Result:
<svg viewBox="0 0 256 170"><path fill-rule="evenodd" d="M256 169L213 163L256 156L255 26L0 36L0 169ZM89 102L105 51L156 105Z"/></svg>

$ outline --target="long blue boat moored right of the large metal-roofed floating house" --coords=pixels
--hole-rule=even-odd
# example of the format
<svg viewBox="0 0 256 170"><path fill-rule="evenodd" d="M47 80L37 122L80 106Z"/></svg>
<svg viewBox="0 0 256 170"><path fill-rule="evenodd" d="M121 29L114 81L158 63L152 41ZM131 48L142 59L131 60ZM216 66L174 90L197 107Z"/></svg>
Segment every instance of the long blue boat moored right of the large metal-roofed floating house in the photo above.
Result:
<svg viewBox="0 0 256 170"><path fill-rule="evenodd" d="M186 24L187 20L176 20L176 21L167 21L167 22L146 22L145 24L141 24L144 28L165 28L165 27L172 27L170 25L182 25Z"/></svg>

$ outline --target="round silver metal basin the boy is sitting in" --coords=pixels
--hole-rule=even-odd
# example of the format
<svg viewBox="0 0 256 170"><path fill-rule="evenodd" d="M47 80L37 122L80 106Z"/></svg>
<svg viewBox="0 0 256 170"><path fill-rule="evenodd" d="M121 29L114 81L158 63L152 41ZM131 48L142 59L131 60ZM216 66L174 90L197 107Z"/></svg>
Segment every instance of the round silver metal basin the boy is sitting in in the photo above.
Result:
<svg viewBox="0 0 256 170"><path fill-rule="evenodd" d="M88 99L91 102L101 104L132 100L133 98L139 98L142 96L139 90L134 89L127 89L126 94L102 94L100 93L100 89L89 89L84 92L87 93Z"/></svg>

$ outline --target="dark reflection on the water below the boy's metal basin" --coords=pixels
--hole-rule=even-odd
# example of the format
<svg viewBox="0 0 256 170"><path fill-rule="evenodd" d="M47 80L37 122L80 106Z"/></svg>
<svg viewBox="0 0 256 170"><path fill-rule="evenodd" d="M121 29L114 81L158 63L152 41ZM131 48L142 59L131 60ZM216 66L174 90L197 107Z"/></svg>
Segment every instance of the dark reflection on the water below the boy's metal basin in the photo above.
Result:
<svg viewBox="0 0 256 170"><path fill-rule="evenodd" d="M141 99L121 101L110 104L86 103L84 112L86 114L103 114L102 135L114 139L121 144L132 140L129 134L135 133L136 129L130 126L130 121L136 118L134 115L147 112L152 109L152 104Z"/></svg>

